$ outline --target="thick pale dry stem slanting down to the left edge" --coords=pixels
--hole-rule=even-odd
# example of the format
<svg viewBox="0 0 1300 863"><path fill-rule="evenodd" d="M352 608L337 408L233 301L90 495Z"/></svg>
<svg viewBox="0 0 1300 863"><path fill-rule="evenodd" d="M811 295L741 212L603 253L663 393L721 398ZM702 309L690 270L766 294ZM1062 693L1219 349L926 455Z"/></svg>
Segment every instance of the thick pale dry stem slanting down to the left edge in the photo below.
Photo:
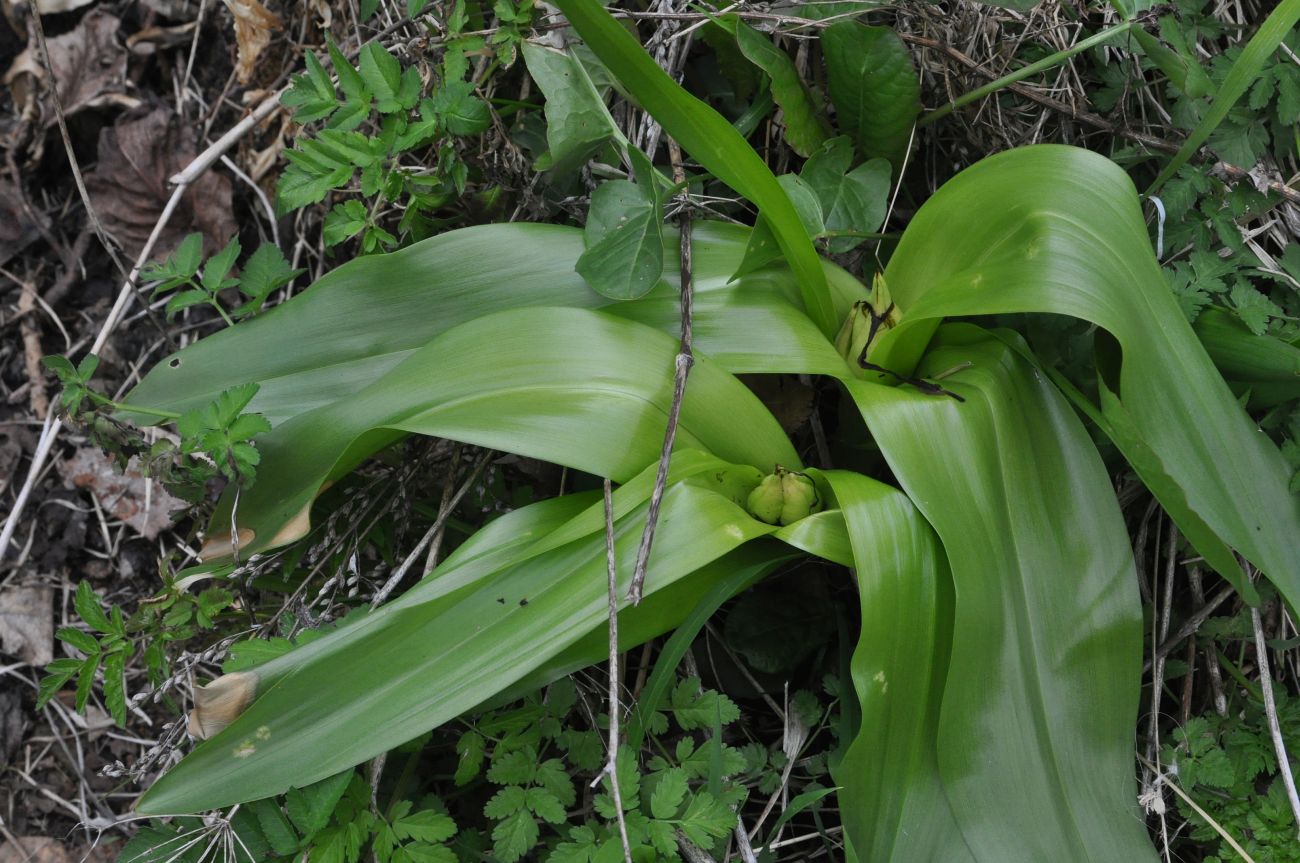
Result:
<svg viewBox="0 0 1300 863"><path fill-rule="evenodd" d="M39 18L39 16L34 17ZM131 268L126 281L122 283L122 289L117 294L117 300L113 303L113 308L109 311L103 326L100 326L99 334L95 337L95 343L91 344L91 354L99 354L100 350L103 350L104 343L108 342L108 337L113 333L113 328L121 320L126 307L135 296L135 277L153 253L153 246L157 244L159 237L162 235L162 230L166 227L168 222L172 221L172 214L176 212L177 204L181 203L181 196L185 194L186 187L203 175L203 172L217 161L225 151L239 140L242 135L247 134L250 129L256 126L261 120L269 117L272 112L278 108L280 92L276 92L260 104L254 113L235 123L230 131L224 134L213 142L211 147L195 156L194 161L191 161L185 170L172 178L172 182L176 183L176 190L172 192L166 205L162 208L162 214L159 216L159 221L153 225L153 231L150 234L148 240L146 240L144 248L140 250L139 257L135 259L135 266ZM5 555L9 554L9 543L13 541L13 533L18 528L18 520L22 517L23 508L27 506L27 498L31 496L31 490L36 485L36 478L46 467L49 451L53 448L55 441L58 438L58 433L62 428L62 420L53 420L52 415L46 417L46 428L42 432L40 441L36 443L36 451L31 456L31 465L27 468L27 478L23 481L22 489L18 491L18 496L13 503L13 509L9 511L9 516L5 519L4 528L0 529L0 560L4 560Z"/></svg>

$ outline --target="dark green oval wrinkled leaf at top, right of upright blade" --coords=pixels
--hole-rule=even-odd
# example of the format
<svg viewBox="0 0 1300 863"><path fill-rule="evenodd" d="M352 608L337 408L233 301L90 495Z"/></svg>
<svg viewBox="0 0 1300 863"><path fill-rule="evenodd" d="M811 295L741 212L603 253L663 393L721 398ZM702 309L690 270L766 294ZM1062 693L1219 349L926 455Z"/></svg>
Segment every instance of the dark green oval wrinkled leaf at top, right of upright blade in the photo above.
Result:
<svg viewBox="0 0 1300 863"><path fill-rule="evenodd" d="M907 45L889 27L840 21L822 32L827 84L840 129L866 159L902 170L920 113L920 84Z"/></svg>

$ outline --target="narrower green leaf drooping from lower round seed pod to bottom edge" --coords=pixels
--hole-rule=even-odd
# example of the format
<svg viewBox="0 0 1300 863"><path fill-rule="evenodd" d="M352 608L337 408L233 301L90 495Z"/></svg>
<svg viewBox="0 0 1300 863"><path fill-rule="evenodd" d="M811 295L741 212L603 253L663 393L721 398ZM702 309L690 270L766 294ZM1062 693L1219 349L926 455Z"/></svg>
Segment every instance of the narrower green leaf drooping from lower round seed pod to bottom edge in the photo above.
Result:
<svg viewBox="0 0 1300 863"><path fill-rule="evenodd" d="M852 663L862 719L831 771L848 858L974 860L936 760L952 642L948 560L907 495L857 473L824 476L842 508L862 606Z"/></svg>

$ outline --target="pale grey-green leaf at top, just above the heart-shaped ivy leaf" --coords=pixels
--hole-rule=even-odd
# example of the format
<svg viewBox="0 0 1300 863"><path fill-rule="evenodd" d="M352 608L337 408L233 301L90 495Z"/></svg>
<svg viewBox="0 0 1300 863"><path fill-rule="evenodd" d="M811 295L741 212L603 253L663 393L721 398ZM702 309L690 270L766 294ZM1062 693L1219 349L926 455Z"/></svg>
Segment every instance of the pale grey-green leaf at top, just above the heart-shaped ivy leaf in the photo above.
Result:
<svg viewBox="0 0 1300 863"><path fill-rule="evenodd" d="M623 133L582 61L572 52L525 42L524 62L546 96L546 170L566 177L577 172L606 143L623 140Z"/></svg>

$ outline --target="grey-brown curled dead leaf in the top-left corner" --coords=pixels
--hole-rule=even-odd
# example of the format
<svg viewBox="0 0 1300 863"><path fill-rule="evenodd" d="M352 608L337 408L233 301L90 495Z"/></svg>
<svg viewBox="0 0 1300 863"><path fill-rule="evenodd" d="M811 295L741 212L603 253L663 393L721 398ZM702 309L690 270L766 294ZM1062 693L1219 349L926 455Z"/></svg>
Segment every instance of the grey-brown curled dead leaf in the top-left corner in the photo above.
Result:
<svg viewBox="0 0 1300 863"><path fill-rule="evenodd" d="M117 39L121 21L103 9L91 9L81 23L61 36L46 42L49 65L58 87L64 116L104 105L134 107L139 100L126 88L126 49ZM46 68L34 48L18 55L5 73L4 83L13 90L14 104L38 99L44 88ZM40 104L42 125L53 126L53 105Z"/></svg>

